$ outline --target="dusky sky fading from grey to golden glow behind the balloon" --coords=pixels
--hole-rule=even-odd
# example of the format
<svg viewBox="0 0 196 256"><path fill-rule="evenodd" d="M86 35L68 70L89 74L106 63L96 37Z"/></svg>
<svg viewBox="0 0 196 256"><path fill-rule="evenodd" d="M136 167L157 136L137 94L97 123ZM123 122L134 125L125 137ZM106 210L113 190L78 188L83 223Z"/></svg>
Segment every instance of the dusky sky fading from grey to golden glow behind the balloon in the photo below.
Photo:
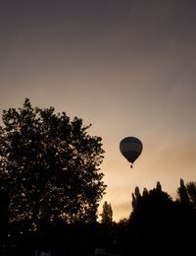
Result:
<svg viewBox="0 0 196 256"><path fill-rule="evenodd" d="M92 124L116 222L160 181L196 180L195 0L2 0L0 111L54 106ZM124 137L143 143L130 168Z"/></svg>

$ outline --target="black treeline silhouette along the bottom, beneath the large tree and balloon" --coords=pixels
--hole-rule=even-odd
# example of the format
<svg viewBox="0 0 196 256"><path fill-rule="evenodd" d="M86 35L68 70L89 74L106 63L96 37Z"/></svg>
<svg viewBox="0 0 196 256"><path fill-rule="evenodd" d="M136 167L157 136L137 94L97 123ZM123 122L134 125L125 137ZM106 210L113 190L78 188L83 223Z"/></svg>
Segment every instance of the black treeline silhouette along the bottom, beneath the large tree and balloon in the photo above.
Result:
<svg viewBox="0 0 196 256"><path fill-rule="evenodd" d="M39 231L27 231L27 222L10 224L12 236L6 242L17 244L12 255L31 255L34 250L51 251L55 256L94 255L97 247L106 248L109 255L192 252L196 238L196 182L184 183L180 179L176 199L162 190L159 181L150 190L140 192L135 187L130 203L129 217L119 223L113 222L112 206L105 202L101 222L43 223ZM22 224L26 231L18 233Z"/></svg>

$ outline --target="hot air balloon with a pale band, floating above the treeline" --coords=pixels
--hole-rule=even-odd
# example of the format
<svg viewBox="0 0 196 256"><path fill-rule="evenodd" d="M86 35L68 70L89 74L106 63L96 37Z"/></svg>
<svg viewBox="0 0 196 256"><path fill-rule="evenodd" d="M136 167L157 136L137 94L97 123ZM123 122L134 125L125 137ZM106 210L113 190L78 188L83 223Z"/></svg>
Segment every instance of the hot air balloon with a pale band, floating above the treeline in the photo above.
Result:
<svg viewBox="0 0 196 256"><path fill-rule="evenodd" d="M131 168L133 162L140 156L142 150L142 142L135 137L125 137L120 142L120 151L123 157L131 163Z"/></svg>

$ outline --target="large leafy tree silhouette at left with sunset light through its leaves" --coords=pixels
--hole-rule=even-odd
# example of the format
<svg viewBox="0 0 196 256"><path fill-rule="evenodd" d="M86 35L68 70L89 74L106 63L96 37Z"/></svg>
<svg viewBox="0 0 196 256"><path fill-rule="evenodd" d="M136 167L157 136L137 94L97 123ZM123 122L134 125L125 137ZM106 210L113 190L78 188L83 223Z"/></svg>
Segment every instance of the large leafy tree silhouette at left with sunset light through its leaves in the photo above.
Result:
<svg viewBox="0 0 196 256"><path fill-rule="evenodd" d="M93 222L106 185L101 138L82 119L54 107L4 110L0 127L0 185L10 197L10 221Z"/></svg>

